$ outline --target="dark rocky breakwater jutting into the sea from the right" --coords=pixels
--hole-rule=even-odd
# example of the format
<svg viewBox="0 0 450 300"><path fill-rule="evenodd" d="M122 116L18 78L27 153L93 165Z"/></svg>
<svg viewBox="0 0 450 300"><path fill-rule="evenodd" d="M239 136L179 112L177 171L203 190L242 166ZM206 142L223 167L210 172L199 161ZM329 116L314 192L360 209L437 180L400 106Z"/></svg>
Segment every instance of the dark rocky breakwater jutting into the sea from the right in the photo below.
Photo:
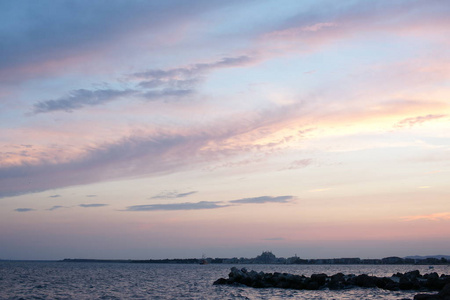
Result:
<svg viewBox="0 0 450 300"><path fill-rule="evenodd" d="M430 273L421 275L419 271L397 273L391 277L376 277L366 274L344 275L337 273L332 276L327 274L313 274L310 277L294 275L289 273L264 273L247 271L247 269L231 268L228 279L220 278L214 282L215 285L238 285L254 288L283 288L296 290L319 290L319 289L351 289L356 287L381 288L391 291L416 290L416 291L439 291L438 294L418 294L416 300L450 300L450 275Z"/></svg>

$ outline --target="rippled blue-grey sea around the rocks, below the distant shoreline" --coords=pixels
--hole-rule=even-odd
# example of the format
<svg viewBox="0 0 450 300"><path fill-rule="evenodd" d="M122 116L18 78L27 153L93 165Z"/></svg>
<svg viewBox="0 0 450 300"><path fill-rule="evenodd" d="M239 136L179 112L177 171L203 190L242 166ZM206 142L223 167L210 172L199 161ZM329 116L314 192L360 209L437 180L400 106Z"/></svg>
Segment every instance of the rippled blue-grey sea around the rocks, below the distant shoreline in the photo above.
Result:
<svg viewBox="0 0 450 300"><path fill-rule="evenodd" d="M0 262L0 299L413 299L416 291L255 289L213 285L231 267L257 272L310 276L368 274L391 276L419 270L450 274L450 266L417 265L233 265L98 262Z"/></svg>

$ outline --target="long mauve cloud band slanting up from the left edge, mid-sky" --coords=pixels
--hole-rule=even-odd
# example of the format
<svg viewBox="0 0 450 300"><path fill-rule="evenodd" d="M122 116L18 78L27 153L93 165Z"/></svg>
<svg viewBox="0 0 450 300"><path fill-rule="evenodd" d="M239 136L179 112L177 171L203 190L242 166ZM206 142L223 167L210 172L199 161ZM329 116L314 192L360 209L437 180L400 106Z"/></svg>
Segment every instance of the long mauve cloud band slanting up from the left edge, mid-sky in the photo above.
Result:
<svg viewBox="0 0 450 300"><path fill-rule="evenodd" d="M231 157L243 152L273 152L286 147L284 137L268 136L283 126L293 113L290 107L263 111L253 119L228 119L207 128L160 130L123 137L110 143L89 145L84 153L53 162L46 156L33 163L0 166L0 197L45 191L58 187L108 181L129 176L174 172L187 165ZM260 141L264 138L264 141ZM299 137L302 138L302 137ZM45 151L40 151L45 153ZM47 174L41 176L42 172Z"/></svg>

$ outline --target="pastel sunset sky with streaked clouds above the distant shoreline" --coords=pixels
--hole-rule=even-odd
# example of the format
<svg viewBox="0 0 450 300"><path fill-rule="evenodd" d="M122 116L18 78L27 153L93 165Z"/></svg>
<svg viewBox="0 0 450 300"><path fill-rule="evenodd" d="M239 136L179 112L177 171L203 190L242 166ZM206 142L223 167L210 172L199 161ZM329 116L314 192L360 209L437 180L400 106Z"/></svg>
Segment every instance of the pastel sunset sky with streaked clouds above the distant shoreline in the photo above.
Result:
<svg viewBox="0 0 450 300"><path fill-rule="evenodd" d="M0 1L0 259L450 254L449 14Z"/></svg>

